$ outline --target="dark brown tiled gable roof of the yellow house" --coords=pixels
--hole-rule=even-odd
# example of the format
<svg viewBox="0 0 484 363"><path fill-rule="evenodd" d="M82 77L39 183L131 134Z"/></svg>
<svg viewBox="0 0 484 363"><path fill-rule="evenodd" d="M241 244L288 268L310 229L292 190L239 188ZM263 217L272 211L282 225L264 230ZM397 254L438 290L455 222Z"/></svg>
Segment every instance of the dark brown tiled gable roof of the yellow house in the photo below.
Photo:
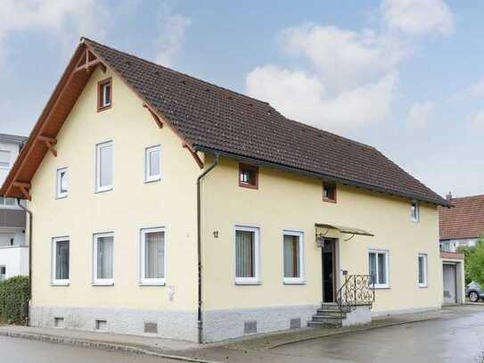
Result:
<svg viewBox="0 0 484 363"><path fill-rule="evenodd" d="M81 40L74 61L71 60L62 79L69 77L72 63L78 62L79 55L76 57L76 54L84 47L118 74L193 151L221 153L235 159L408 199L450 205L372 146L289 120L269 103L169 70L87 38ZM87 78L78 79L78 87L72 87L76 98ZM70 102L67 106L71 107ZM57 124L62 126L61 119ZM39 122L41 120L42 116ZM46 150L43 149L44 154ZM21 162L20 157L19 166ZM24 173L26 180L21 181L28 181L29 174L33 176L34 172L32 168L29 173ZM12 176L11 183L14 178ZM7 191L20 194L20 190L9 187L5 182L0 194Z"/></svg>

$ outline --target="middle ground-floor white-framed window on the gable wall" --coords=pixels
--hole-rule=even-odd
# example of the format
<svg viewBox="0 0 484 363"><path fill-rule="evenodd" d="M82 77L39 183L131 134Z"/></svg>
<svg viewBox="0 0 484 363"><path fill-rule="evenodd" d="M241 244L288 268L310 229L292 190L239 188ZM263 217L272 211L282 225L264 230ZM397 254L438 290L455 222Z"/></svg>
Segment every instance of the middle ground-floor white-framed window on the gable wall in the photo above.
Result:
<svg viewBox="0 0 484 363"><path fill-rule="evenodd" d="M114 234L101 233L94 235L93 250L94 285L113 285Z"/></svg>

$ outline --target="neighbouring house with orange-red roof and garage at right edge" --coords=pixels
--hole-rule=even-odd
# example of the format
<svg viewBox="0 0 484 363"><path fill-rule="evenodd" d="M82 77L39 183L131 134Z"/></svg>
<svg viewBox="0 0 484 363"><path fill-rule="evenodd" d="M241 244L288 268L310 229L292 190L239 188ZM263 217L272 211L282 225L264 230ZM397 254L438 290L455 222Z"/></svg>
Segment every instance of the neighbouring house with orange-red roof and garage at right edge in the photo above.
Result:
<svg viewBox="0 0 484 363"><path fill-rule="evenodd" d="M440 255L443 263L444 302L462 303L465 298L463 253L459 247L474 246L484 235L484 195L453 198L454 208L439 208Z"/></svg>

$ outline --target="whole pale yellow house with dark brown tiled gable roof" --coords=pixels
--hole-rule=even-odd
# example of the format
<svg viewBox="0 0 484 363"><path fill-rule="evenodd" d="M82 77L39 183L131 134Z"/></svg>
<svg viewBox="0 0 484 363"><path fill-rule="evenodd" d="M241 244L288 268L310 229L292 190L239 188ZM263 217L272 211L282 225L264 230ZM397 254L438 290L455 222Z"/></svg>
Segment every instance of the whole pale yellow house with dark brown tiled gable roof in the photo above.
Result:
<svg viewBox="0 0 484 363"><path fill-rule="evenodd" d="M0 194L31 200L33 326L213 342L335 301L345 325L443 302L447 200L372 146L84 38Z"/></svg>

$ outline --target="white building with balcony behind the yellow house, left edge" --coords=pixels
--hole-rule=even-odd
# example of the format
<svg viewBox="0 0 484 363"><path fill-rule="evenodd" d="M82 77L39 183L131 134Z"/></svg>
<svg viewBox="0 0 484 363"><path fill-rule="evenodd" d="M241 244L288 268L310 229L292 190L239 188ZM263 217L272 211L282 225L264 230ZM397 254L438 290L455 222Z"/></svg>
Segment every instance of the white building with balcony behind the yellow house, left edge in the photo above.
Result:
<svg viewBox="0 0 484 363"><path fill-rule="evenodd" d="M4 182L27 137L0 134L0 184ZM15 198L0 196L0 281L29 275L25 211Z"/></svg>

